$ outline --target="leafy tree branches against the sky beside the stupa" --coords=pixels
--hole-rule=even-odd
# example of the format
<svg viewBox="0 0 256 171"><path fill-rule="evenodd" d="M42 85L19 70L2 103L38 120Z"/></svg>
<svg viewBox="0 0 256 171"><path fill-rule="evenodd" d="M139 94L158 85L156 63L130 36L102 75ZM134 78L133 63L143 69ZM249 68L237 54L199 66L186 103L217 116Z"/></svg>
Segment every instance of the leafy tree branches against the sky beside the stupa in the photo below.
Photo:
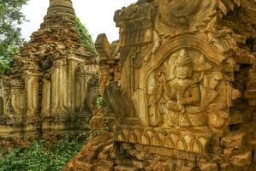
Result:
<svg viewBox="0 0 256 171"><path fill-rule="evenodd" d="M27 0L0 0L0 73L9 68L23 43L19 25L25 21L21 7L26 3Z"/></svg>

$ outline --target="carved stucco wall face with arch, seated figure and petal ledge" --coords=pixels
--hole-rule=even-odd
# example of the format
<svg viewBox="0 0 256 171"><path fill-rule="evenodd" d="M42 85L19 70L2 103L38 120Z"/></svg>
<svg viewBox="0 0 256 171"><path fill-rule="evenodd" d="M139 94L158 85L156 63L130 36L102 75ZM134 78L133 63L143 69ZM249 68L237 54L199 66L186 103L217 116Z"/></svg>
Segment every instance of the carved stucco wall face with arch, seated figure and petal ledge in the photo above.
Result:
<svg viewBox="0 0 256 171"><path fill-rule="evenodd" d="M233 87L235 39L217 27L234 9L229 3L139 1L116 11L123 105L117 142L207 153L213 138L229 133L230 108L241 97Z"/></svg>

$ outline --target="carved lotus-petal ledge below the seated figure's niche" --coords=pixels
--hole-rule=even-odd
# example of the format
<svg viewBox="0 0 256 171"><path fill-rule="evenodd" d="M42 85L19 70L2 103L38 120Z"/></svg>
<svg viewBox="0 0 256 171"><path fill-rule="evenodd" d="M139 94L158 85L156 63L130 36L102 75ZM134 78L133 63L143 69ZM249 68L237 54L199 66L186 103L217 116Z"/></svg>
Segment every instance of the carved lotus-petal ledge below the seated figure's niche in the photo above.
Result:
<svg viewBox="0 0 256 171"><path fill-rule="evenodd" d="M144 144L196 153L208 151L212 133L200 128L148 128L118 126L115 140L131 144Z"/></svg>

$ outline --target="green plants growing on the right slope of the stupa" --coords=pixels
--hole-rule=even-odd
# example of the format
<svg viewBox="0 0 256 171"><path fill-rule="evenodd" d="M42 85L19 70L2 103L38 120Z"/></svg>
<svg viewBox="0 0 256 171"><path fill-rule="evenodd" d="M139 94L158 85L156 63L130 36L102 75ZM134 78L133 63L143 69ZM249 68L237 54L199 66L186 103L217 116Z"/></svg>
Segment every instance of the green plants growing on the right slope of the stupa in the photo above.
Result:
<svg viewBox="0 0 256 171"><path fill-rule="evenodd" d="M75 19L75 27L80 34L80 40L86 45L88 50L90 50L93 54L98 55L98 52L93 44L91 34L77 17Z"/></svg>

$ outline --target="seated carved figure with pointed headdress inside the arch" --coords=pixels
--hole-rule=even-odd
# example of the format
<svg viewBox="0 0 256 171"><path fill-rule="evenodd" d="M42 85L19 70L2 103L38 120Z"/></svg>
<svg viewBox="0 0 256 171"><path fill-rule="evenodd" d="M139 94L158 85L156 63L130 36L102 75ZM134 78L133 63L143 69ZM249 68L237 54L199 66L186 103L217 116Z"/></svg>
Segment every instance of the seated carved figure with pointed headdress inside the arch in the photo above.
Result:
<svg viewBox="0 0 256 171"><path fill-rule="evenodd" d="M204 115L188 115L190 109L199 106L201 92L197 80L193 77L193 61L188 51L183 49L177 56L174 69L175 78L164 84L166 109L170 114L170 126L190 127L205 125Z"/></svg>

